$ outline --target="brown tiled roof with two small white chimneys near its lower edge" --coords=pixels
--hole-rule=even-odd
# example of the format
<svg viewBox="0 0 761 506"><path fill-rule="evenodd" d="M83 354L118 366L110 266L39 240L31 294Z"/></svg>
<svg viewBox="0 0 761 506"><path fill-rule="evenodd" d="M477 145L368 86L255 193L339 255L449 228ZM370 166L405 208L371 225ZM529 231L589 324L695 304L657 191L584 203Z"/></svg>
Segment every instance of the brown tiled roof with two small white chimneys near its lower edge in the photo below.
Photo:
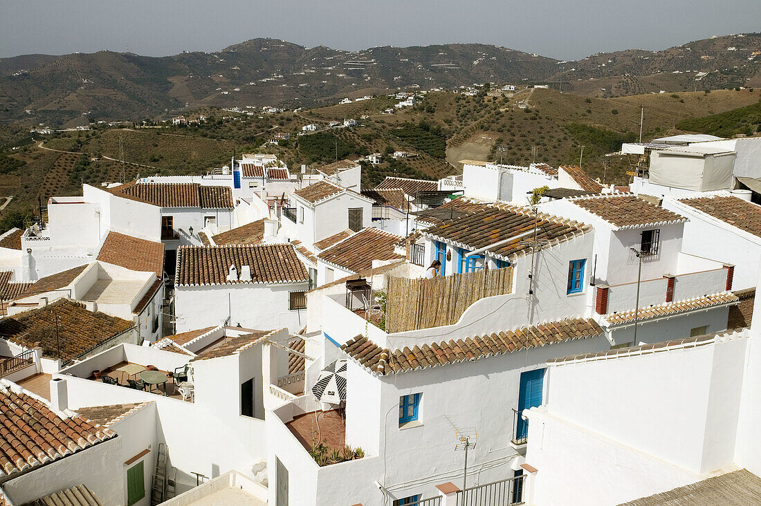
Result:
<svg viewBox="0 0 761 506"><path fill-rule="evenodd" d="M291 244L252 244L245 246L186 246L177 250L178 286L247 283L227 281L230 266L237 275L241 266L250 266L248 283L299 283L309 274Z"/></svg>

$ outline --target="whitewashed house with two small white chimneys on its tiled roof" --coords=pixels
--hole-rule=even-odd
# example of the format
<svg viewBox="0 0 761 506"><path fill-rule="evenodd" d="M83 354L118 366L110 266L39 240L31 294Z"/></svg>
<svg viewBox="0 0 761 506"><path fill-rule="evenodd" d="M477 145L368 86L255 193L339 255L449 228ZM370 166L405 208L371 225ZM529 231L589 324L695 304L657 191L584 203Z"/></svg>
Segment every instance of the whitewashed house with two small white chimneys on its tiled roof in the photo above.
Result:
<svg viewBox="0 0 761 506"><path fill-rule="evenodd" d="M306 322L308 288L309 273L291 244L180 247L177 331L228 323L297 332Z"/></svg>

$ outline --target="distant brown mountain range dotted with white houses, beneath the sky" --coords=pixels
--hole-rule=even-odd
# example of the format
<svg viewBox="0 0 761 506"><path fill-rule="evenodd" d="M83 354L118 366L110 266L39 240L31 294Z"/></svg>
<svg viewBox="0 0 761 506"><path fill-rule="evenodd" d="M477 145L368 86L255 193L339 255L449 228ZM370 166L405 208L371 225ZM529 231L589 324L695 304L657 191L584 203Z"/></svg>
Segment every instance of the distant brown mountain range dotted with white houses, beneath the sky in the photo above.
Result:
<svg viewBox="0 0 761 506"><path fill-rule="evenodd" d="M487 81L547 82L599 97L702 91L761 84L761 53L753 54L759 50L761 37L748 33L576 62L484 44L349 52L272 39L161 58L107 51L27 55L0 59L0 120L76 126L165 118L197 107L317 107L399 88Z"/></svg>

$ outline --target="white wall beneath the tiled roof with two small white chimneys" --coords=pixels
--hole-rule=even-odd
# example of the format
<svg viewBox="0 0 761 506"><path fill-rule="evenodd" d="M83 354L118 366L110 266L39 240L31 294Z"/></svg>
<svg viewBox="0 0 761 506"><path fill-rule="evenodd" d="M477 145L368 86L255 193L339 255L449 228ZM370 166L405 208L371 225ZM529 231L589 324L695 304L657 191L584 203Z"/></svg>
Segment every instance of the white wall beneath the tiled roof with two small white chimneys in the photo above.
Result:
<svg viewBox="0 0 761 506"><path fill-rule="evenodd" d="M307 323L306 310L290 310L291 291L305 291L308 283L275 285L238 283L177 286L174 291L177 332L218 326L230 317L230 326L298 332Z"/></svg>

